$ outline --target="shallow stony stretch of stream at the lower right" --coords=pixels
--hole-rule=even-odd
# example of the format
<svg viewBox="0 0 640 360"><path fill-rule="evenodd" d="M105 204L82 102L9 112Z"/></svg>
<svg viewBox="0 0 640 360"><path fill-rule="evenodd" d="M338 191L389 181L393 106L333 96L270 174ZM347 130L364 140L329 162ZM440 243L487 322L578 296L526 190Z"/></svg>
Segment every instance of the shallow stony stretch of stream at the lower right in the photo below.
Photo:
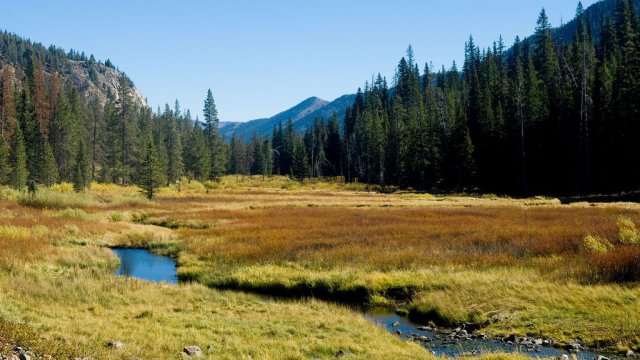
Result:
<svg viewBox="0 0 640 360"><path fill-rule="evenodd" d="M408 318L380 309L365 312L365 317L377 325L398 334L404 340L413 340L421 337L418 343L427 350L432 351L436 356L457 357L462 355L479 355L486 352L521 353L532 358L558 358L563 354L569 355L569 358L572 356L565 350L547 346L535 347L535 349L533 349L533 347L509 344L499 340L451 340L451 338L447 338L448 332L446 331L420 330L420 326L411 322ZM394 326L394 324L397 326ZM609 359L618 358L612 354L591 351L580 351L575 355L579 360L594 360L600 355Z"/></svg>

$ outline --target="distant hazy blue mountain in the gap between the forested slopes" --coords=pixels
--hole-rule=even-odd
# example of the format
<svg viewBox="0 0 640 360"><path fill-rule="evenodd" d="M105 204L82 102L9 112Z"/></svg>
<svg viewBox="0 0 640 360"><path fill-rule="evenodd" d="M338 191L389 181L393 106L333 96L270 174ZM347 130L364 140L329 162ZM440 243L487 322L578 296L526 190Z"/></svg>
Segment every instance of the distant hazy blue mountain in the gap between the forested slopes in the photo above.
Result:
<svg viewBox="0 0 640 360"><path fill-rule="evenodd" d="M247 122L222 122L220 132L229 139L234 134L244 140L249 140L254 133L257 135L271 135L273 128L279 123L285 124L289 119L297 132L304 132L316 118L328 120L336 113L338 120L344 118L345 109L353 103L355 95L344 95L328 102L318 97L310 97L298 105L287 109L270 118L251 120Z"/></svg>

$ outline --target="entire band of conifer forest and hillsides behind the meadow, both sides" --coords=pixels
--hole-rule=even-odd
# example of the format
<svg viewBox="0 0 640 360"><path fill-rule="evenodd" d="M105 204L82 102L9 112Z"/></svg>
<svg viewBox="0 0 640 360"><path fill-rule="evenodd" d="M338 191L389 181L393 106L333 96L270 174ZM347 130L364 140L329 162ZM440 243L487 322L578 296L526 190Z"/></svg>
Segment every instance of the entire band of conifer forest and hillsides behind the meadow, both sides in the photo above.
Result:
<svg viewBox="0 0 640 360"><path fill-rule="evenodd" d="M409 47L393 81L366 83L344 117L317 113L304 134L279 118L268 136L254 129L228 142L210 91L204 122L177 101L154 113L109 61L4 33L0 183L135 183L152 196L183 176L276 173L519 195L637 190L636 5L578 5L560 29L542 10L533 36L510 48L470 37L464 63L448 69L419 64Z"/></svg>

